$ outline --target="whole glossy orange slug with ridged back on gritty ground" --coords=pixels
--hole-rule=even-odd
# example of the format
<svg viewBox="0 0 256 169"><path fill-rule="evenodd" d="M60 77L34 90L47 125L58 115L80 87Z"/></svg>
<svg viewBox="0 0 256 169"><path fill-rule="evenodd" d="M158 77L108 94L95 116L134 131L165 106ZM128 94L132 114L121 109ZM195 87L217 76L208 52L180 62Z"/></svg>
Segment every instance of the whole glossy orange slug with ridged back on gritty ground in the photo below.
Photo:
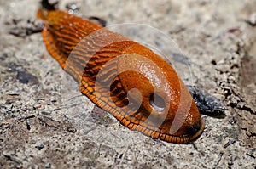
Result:
<svg viewBox="0 0 256 169"><path fill-rule="evenodd" d="M187 88L149 48L67 12L39 9L38 18L49 54L125 127L176 144L201 135L204 121Z"/></svg>

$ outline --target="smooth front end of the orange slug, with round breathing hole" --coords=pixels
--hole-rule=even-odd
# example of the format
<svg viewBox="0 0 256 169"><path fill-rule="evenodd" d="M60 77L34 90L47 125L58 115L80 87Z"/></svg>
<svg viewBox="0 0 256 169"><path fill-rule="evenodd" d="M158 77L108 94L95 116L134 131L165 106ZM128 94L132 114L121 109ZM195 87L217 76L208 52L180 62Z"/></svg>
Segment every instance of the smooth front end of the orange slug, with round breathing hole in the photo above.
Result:
<svg viewBox="0 0 256 169"><path fill-rule="evenodd" d="M177 144L189 143L201 135L204 121L195 102L164 59L135 44L119 56L118 70L129 100L122 107L128 112L125 118L131 121L123 122L126 127Z"/></svg>

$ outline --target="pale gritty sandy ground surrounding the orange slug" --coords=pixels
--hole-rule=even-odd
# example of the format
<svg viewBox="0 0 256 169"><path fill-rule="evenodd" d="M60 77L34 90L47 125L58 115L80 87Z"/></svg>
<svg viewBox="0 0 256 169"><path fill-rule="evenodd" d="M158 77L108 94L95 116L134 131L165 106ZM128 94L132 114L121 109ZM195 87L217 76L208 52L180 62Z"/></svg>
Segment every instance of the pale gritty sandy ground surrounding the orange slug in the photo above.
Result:
<svg viewBox="0 0 256 169"><path fill-rule="evenodd" d="M226 116L202 115L206 128L194 144L130 131L79 93L45 50L40 33L9 34L32 26L39 2L0 0L0 168L256 168L255 0L59 5L67 10L67 4L107 25L133 23L131 32L114 28L130 38L140 32L137 41L151 40L160 50L170 45L173 52L161 37L172 39L178 46L172 65L183 81L223 100ZM153 28L135 23L159 34L151 36Z"/></svg>

